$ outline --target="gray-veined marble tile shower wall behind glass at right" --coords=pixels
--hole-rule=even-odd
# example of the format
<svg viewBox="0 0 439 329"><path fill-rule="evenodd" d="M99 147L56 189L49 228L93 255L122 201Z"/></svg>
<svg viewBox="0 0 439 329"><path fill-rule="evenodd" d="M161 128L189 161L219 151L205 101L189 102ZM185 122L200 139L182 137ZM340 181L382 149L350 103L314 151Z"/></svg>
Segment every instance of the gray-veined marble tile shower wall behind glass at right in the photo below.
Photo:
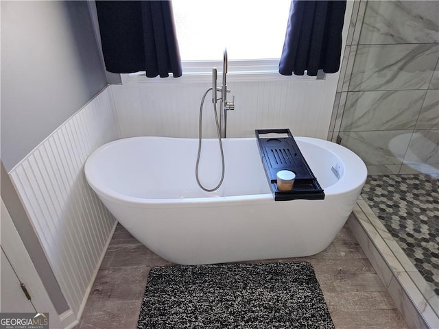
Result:
<svg viewBox="0 0 439 329"><path fill-rule="evenodd" d="M329 139L371 174L439 175L439 2L355 1L352 17Z"/></svg>

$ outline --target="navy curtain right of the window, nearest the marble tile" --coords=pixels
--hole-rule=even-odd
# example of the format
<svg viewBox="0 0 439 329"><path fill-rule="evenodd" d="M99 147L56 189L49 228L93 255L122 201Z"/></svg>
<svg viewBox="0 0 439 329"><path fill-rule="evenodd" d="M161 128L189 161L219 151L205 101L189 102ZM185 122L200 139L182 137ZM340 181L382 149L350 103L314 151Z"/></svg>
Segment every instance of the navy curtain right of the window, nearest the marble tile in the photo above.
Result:
<svg viewBox="0 0 439 329"><path fill-rule="evenodd" d="M346 1L293 0L279 73L315 76L340 68Z"/></svg>

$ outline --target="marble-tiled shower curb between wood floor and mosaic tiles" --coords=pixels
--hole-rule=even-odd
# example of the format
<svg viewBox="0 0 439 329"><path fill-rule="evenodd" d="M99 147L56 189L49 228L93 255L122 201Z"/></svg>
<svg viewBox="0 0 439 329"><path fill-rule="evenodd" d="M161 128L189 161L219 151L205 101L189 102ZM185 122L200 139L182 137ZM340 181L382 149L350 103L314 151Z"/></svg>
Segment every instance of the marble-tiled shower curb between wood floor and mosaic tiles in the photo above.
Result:
<svg viewBox="0 0 439 329"><path fill-rule="evenodd" d="M438 295L361 196L348 226L409 327L439 328Z"/></svg>

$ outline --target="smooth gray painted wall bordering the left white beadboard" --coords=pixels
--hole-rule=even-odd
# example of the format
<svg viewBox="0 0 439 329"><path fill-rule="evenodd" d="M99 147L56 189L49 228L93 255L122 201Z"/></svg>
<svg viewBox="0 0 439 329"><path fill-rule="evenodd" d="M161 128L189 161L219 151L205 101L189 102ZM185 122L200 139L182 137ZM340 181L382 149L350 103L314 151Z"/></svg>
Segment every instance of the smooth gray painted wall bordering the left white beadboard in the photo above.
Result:
<svg viewBox="0 0 439 329"><path fill-rule="evenodd" d="M68 309L7 172L106 84L87 1L1 1L1 197L58 313Z"/></svg>

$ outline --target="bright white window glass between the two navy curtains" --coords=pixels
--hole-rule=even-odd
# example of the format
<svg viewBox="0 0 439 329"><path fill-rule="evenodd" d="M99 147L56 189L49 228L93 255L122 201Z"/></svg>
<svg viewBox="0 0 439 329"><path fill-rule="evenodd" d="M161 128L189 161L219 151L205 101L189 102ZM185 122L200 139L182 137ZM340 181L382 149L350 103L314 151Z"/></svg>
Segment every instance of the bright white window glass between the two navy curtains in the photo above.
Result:
<svg viewBox="0 0 439 329"><path fill-rule="evenodd" d="M290 0L174 0L182 61L281 57Z"/></svg>

